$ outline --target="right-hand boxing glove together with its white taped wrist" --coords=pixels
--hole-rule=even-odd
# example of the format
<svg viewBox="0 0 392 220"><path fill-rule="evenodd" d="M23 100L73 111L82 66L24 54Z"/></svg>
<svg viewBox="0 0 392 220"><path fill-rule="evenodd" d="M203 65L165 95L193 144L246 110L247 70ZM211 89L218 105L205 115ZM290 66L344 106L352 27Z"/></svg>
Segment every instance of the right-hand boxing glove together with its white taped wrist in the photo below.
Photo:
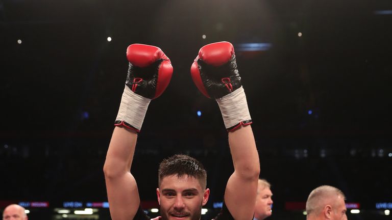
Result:
<svg viewBox="0 0 392 220"><path fill-rule="evenodd" d="M228 131L252 124L231 43L218 42L203 46L190 72L194 84L203 95L213 97L218 102Z"/></svg>

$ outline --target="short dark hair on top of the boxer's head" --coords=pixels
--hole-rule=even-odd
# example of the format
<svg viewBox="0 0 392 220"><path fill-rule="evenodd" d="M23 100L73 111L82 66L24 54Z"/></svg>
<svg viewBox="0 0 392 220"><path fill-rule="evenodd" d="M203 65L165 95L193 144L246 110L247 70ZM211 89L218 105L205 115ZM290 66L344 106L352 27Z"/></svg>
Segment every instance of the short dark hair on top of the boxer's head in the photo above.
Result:
<svg viewBox="0 0 392 220"><path fill-rule="evenodd" d="M161 180L170 175L177 175L177 177L182 177L183 175L191 176L200 181L202 188L206 188L207 185L207 171L204 169L203 164L188 155L176 154L162 160L158 170L159 186L161 185Z"/></svg>

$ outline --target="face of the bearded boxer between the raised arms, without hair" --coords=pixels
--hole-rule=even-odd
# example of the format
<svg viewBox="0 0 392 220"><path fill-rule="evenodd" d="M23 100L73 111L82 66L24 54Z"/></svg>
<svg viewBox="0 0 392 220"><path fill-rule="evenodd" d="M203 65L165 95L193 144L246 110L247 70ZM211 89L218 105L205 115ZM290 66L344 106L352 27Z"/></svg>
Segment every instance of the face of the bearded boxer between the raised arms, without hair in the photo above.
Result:
<svg viewBox="0 0 392 220"><path fill-rule="evenodd" d="M157 188L160 214L163 220L199 220L209 194L194 177L163 177Z"/></svg>

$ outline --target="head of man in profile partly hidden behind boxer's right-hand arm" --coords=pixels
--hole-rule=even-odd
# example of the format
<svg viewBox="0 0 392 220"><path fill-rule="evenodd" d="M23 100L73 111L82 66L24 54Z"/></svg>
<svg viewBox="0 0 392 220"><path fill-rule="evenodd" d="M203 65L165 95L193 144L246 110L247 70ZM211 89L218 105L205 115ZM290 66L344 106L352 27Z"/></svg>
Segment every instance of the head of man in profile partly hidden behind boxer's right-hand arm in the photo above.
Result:
<svg viewBox="0 0 392 220"><path fill-rule="evenodd" d="M255 218L262 220L272 214L271 184L265 179L259 179L255 204Z"/></svg>

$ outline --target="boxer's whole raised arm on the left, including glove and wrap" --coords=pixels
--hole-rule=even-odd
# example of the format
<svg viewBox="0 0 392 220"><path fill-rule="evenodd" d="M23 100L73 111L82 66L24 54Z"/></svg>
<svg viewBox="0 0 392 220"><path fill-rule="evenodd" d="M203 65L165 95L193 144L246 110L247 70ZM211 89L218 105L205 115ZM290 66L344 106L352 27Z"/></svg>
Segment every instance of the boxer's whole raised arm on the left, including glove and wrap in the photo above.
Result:
<svg viewBox="0 0 392 220"><path fill-rule="evenodd" d="M173 73L170 60L155 46L132 44L127 49L127 59L126 86L104 165L113 220L132 220L139 208L137 184L130 171L137 132L151 99L163 93Z"/></svg>

